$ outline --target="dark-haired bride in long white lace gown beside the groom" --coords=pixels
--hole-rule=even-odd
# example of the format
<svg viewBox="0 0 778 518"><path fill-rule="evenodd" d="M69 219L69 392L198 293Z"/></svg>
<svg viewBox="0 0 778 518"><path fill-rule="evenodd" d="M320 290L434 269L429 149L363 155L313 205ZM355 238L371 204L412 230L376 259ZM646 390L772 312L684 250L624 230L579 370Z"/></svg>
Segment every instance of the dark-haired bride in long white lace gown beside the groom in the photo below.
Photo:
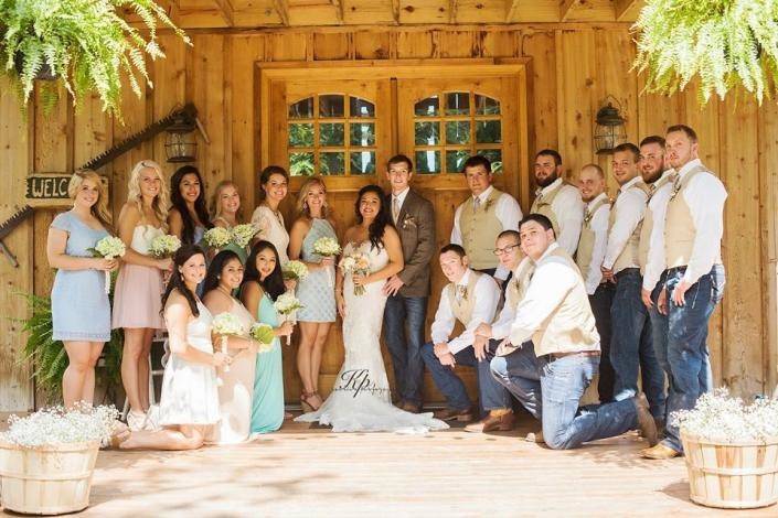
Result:
<svg viewBox="0 0 778 518"><path fill-rule="evenodd" d="M399 236L388 223L381 187L362 187L355 213L358 224L345 231L343 257L364 255L370 260L370 273L344 277L338 271L335 298L343 319L345 360L327 401L296 421L318 421L332 425L333 432L423 433L448 428L431 413L409 413L392 404L379 343L386 305L382 288L386 279L403 269L403 251ZM356 294L355 290L363 293Z"/></svg>

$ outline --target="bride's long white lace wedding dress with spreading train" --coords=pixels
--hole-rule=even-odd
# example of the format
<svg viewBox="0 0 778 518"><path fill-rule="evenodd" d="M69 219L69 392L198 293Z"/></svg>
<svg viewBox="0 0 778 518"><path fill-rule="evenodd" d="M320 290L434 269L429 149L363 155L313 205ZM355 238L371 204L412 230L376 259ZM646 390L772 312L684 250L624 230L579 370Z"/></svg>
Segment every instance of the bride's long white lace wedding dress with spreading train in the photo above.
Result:
<svg viewBox="0 0 778 518"><path fill-rule="evenodd" d="M371 271L381 270L388 261L386 250L371 248L370 241L348 244L343 253L355 251L370 257ZM379 342L386 305L386 296L381 292L383 284L383 281L373 282L365 285L364 294L355 295L351 276L347 277L343 284L345 360L332 393L321 408L300 416L296 421L318 421L331 425L333 432L425 433L448 428L431 413L405 412L392 404Z"/></svg>

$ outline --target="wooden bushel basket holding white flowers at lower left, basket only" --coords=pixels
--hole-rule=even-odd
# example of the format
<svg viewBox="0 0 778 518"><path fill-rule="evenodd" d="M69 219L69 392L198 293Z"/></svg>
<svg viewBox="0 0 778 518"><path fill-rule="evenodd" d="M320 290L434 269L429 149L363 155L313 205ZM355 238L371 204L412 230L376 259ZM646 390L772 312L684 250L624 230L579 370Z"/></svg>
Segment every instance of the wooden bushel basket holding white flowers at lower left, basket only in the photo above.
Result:
<svg viewBox="0 0 778 518"><path fill-rule="evenodd" d="M99 443L20 447L0 442L2 506L32 515L60 515L89 505Z"/></svg>

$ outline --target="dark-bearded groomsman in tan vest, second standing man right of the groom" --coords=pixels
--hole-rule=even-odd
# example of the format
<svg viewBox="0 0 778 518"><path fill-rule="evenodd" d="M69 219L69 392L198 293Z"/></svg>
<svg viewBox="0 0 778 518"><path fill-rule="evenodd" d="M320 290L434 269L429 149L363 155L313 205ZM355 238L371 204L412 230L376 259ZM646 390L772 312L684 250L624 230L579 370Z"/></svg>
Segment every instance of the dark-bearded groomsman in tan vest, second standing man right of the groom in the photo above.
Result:
<svg viewBox="0 0 778 518"><path fill-rule="evenodd" d="M575 256L584 219L584 202L580 193L563 177L562 155L553 149L544 149L535 155L535 201L533 214L542 214L551 220L556 233L556 242Z"/></svg>

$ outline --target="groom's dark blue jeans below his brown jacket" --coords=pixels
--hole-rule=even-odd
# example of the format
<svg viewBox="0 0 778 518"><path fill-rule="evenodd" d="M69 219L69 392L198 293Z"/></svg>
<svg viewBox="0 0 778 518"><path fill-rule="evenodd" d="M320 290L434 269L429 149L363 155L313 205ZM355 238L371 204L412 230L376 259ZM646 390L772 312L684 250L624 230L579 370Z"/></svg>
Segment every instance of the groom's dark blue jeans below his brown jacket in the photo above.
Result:
<svg viewBox="0 0 778 518"><path fill-rule="evenodd" d="M424 325L427 319L426 296L394 295L384 310L384 341L392 356L394 380L399 399L422 404L424 388Z"/></svg>

